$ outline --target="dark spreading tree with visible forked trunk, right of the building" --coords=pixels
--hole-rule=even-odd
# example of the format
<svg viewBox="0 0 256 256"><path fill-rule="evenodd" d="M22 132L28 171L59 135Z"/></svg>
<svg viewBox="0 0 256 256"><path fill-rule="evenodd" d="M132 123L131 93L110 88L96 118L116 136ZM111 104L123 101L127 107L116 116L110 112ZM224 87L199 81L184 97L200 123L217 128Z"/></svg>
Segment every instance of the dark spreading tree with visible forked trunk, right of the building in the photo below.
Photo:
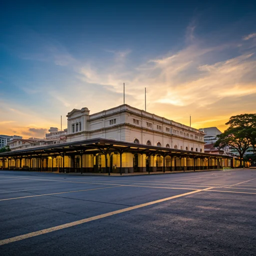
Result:
<svg viewBox="0 0 256 256"><path fill-rule="evenodd" d="M236 150L240 156L240 166L242 166L243 154L250 146L250 141L244 137L242 131L240 127L229 127L216 136L217 141L214 143L214 146L219 149L229 146L230 149Z"/></svg>

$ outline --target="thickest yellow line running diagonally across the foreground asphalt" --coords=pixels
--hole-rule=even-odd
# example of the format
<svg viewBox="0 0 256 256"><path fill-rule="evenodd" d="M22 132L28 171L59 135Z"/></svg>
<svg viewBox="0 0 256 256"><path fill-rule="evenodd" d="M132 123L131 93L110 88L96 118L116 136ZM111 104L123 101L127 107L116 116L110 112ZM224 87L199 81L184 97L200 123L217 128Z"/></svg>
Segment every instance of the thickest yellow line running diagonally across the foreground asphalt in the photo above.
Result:
<svg viewBox="0 0 256 256"><path fill-rule="evenodd" d="M0 245L8 244L8 243L15 242L15 241L20 241L20 240L30 238L30 237L34 237L34 236L37 236L37 235L40 235L40 234L45 234L45 233L53 232L53 231L60 230L60 229L63 229L63 228L83 224L83 223L90 222L90 221L93 221L93 220L96 220L96 219L112 216L112 215L115 215L115 214L119 214L119 213L122 213L122 212L133 210L133 209L138 209L138 208L145 207L145 206L148 206L148 205L152 205L152 204L155 204L155 203L175 199L175 198L185 196L185 195L188 195L188 194L198 193L198 192L201 192L201 191L204 191L204 190L207 190L207 189L211 189L211 188L212 187L208 187L208 188L205 188L205 189L198 189L198 190L195 190L195 191L190 191L190 192L187 192L187 193L170 196L170 197L166 197L166 198L163 198L163 199L159 199L159 200L155 200L155 201L151 201L151 202L146 202L146 203L138 204L138 205L135 205L135 206L131 206L131 207L115 210L115 211L110 211L110 212L100 214L100 215L96 215L96 216L93 216L93 217L83 218L83 219L73 221L73 222L69 222L69 223L66 223L66 224L53 226L53 227L50 227L50 228L45 228L45 229L38 230L38 231L35 231L35 232L14 236L14 237L11 237L11 238L0 240Z"/></svg>

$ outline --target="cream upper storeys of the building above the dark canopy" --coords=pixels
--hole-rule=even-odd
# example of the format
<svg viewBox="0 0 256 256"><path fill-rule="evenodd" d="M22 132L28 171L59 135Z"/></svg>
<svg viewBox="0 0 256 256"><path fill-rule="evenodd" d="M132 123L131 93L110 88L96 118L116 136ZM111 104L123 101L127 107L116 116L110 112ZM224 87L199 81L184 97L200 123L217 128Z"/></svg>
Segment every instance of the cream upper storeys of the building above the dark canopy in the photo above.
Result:
<svg viewBox="0 0 256 256"><path fill-rule="evenodd" d="M106 138L204 152L203 135L195 128L126 104L94 114L86 107L67 114L67 142Z"/></svg>

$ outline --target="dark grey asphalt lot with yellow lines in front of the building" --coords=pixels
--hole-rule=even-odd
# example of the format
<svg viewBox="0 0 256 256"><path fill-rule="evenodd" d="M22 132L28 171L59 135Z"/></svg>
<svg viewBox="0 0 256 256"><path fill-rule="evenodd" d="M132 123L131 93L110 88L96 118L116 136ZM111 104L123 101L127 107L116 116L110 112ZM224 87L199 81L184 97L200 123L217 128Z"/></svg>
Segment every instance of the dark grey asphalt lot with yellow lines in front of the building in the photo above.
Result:
<svg viewBox="0 0 256 256"><path fill-rule="evenodd" d="M256 169L0 171L0 255L256 255Z"/></svg>

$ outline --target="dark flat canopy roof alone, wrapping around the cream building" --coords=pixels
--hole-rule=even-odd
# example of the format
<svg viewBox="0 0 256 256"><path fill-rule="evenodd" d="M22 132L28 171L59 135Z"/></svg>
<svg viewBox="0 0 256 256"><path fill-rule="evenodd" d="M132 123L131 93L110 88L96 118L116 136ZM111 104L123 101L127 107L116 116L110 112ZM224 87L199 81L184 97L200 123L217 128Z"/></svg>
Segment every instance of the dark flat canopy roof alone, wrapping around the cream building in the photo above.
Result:
<svg viewBox="0 0 256 256"><path fill-rule="evenodd" d="M131 152L145 154L161 154L170 156L187 156L187 157L218 157L231 158L228 155L203 153L196 151L187 151L173 149L168 147L160 147L153 145L137 144L125 141L118 141L105 138L86 139L74 142L52 144L47 146L38 146L27 149L15 150L10 152L0 153L2 157L21 157L21 156L36 156L65 153L68 154L96 154L110 152Z"/></svg>

